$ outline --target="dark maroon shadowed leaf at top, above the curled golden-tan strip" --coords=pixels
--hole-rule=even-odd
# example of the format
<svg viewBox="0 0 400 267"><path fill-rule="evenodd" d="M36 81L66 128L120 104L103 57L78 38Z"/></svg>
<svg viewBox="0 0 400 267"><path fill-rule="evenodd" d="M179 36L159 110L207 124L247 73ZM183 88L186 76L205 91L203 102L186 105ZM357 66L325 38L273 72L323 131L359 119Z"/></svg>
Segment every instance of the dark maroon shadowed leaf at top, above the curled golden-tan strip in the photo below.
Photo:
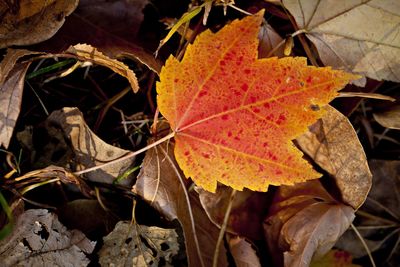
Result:
<svg viewBox="0 0 400 267"><path fill-rule="evenodd" d="M137 41L147 4L147 0L81 0L57 34L36 50L58 54L71 45L86 43L110 58L138 60L159 73L160 61Z"/></svg>

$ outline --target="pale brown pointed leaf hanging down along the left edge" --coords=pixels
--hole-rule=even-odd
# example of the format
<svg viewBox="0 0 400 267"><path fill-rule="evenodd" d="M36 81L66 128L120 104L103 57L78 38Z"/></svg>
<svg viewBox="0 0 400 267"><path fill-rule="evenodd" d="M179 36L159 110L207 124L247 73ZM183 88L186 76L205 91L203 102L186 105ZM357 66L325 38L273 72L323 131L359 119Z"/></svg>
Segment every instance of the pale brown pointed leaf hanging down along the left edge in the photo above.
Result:
<svg viewBox="0 0 400 267"><path fill-rule="evenodd" d="M5 148L10 144L21 109L25 75L29 65L30 63L15 65L8 71L7 78L1 77L4 82L0 84L0 146Z"/></svg>

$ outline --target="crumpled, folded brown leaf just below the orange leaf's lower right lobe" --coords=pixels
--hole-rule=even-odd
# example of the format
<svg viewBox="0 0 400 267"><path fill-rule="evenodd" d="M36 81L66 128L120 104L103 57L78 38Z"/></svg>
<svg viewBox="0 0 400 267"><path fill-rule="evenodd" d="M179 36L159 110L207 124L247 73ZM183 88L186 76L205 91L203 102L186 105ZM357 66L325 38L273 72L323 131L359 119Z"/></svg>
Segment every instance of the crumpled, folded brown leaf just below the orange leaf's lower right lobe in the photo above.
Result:
<svg viewBox="0 0 400 267"><path fill-rule="evenodd" d="M333 247L354 217L354 210L335 202L319 180L279 187L264 221L275 266L309 266Z"/></svg>

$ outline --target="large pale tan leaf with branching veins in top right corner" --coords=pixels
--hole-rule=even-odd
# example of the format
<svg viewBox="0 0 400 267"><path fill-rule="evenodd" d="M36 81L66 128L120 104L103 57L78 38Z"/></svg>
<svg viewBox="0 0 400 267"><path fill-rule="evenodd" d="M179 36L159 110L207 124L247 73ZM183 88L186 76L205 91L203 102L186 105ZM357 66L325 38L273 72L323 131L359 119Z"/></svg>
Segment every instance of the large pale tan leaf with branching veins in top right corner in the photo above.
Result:
<svg viewBox="0 0 400 267"><path fill-rule="evenodd" d="M327 66L400 81L400 2L283 0Z"/></svg>

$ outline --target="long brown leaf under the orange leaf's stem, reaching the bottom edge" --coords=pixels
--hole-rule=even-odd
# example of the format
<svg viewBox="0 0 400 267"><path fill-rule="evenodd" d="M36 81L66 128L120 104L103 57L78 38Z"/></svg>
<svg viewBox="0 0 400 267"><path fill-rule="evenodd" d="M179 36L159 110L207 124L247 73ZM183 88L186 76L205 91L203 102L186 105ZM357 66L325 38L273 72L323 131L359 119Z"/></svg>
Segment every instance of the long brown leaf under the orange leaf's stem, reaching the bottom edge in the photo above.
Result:
<svg viewBox="0 0 400 267"><path fill-rule="evenodd" d="M149 150L143 160L142 169L133 191L142 196L145 201L149 202L169 220L179 220L185 237L189 266L201 266L187 201L178 175L183 177L184 182L188 180L184 178L177 167L173 151L172 144L167 147L165 143ZM190 192L189 197L200 253L205 267L211 266L219 229L208 219L196 192ZM151 202L153 198L154 201ZM221 246L218 266L227 265L225 249Z"/></svg>

